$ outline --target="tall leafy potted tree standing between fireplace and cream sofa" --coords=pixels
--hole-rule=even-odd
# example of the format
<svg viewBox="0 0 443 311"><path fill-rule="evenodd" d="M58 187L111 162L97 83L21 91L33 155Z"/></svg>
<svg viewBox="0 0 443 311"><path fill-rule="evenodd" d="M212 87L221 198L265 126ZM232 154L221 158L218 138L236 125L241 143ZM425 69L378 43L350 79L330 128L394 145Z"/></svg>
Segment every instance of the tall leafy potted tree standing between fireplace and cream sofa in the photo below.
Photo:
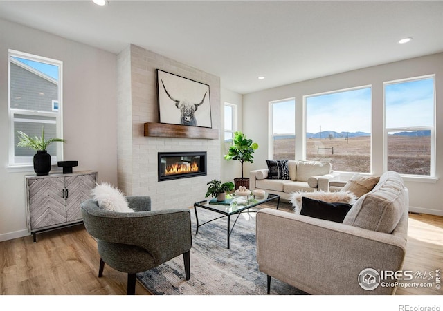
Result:
<svg viewBox="0 0 443 311"><path fill-rule="evenodd" d="M243 175L243 163L253 163L253 153L258 148L258 144L252 140L246 138L246 135L240 131L234 133L233 144L230 145L228 154L224 156L226 160L239 160L242 164L242 177L234 178L235 189L239 189L240 186L249 189L249 178L245 178Z"/></svg>

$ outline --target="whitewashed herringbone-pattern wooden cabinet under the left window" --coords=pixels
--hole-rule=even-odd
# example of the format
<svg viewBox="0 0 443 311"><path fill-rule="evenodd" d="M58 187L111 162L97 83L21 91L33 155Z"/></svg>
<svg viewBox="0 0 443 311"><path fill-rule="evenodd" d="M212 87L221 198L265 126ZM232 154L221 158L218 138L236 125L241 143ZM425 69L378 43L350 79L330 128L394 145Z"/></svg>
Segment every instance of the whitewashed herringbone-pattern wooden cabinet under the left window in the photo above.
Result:
<svg viewBox="0 0 443 311"><path fill-rule="evenodd" d="M80 203L91 198L97 172L26 176L28 230L37 232L82 222Z"/></svg>

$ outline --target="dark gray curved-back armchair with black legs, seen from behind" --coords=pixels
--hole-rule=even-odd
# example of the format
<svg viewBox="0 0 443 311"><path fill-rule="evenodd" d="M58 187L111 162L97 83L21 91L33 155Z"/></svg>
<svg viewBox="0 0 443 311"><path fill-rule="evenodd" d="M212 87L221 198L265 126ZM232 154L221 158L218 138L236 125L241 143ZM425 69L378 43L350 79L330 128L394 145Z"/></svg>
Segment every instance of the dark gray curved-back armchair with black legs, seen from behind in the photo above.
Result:
<svg viewBox="0 0 443 311"><path fill-rule="evenodd" d="M92 199L80 205L84 226L97 240L100 254L98 276L102 276L107 263L128 274L127 294L135 294L136 273L183 254L186 280L189 280L190 211L151 211L149 196L127 196L127 200L135 213L107 211Z"/></svg>

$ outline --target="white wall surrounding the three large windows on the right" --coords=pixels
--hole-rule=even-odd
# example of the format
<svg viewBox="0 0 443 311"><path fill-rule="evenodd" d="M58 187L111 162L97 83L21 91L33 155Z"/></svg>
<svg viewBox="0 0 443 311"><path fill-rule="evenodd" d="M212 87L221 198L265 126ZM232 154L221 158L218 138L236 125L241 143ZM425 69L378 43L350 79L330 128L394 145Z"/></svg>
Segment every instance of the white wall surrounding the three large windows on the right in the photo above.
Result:
<svg viewBox="0 0 443 311"><path fill-rule="evenodd" d="M296 98L296 137L303 131L303 95L335 91L356 86L372 85L372 173L383 173L383 82L422 75L435 74L436 88L436 177L443 176L443 53L417 57L402 62L353 70L347 73L311 79L243 96L243 129L259 144L255 162L246 164L247 170L266 167L268 155L268 103L272 100ZM296 150L302 150L302 140L296 140ZM296 160L302 157L296 153ZM443 216L442 180L437 182L414 181L405 178L410 194L410 210Z"/></svg>

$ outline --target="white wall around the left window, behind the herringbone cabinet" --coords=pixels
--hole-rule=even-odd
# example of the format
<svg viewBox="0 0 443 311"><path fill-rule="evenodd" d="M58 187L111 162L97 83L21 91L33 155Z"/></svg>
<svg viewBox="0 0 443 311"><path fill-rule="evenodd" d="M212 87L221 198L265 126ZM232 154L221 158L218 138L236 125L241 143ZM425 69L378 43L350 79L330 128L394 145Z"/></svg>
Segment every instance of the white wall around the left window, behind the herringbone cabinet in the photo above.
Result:
<svg viewBox="0 0 443 311"><path fill-rule="evenodd" d="M63 62L64 160L117 184L116 55L0 19L0 241L28 235L24 176L8 169L8 49ZM53 172L53 171L52 171Z"/></svg>

